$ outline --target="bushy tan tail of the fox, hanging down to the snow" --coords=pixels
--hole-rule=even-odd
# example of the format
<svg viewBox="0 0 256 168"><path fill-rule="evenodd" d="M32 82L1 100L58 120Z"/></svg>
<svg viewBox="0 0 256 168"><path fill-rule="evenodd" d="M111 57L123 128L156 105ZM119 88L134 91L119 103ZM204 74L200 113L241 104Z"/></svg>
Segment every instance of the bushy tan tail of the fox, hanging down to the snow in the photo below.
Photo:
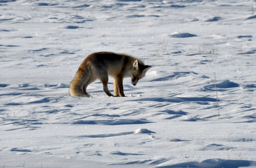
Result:
<svg viewBox="0 0 256 168"><path fill-rule="evenodd" d="M83 86L89 80L90 74L90 69L87 66L78 69L76 76L69 86L69 93L71 96L91 97L86 93L86 90L85 93L83 92Z"/></svg>

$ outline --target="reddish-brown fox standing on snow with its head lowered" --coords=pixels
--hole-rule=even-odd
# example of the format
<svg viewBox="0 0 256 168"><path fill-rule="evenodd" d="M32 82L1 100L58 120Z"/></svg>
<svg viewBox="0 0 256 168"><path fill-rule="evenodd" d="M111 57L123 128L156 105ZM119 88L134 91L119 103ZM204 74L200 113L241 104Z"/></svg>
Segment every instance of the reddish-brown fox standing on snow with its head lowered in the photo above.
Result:
<svg viewBox="0 0 256 168"><path fill-rule="evenodd" d="M152 66L145 65L142 60L130 55L113 52L97 52L88 55L78 68L76 75L69 86L71 96L91 97L86 88L99 79L103 90L108 96L125 97L123 79L132 78L135 86L139 79L145 77ZM113 77L115 95L108 90L108 76Z"/></svg>

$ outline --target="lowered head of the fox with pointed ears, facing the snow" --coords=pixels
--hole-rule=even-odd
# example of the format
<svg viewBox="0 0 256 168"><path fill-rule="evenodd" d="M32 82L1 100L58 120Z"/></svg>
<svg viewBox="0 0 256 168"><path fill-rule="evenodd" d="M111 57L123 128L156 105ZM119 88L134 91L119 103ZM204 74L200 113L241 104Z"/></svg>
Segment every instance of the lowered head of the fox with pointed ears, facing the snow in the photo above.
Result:
<svg viewBox="0 0 256 168"><path fill-rule="evenodd" d="M144 65L144 64L140 64L138 62L138 60L134 61L133 66L133 71L131 73L132 76L132 84L135 86L138 82L139 79L145 77L146 72L148 71L148 69L150 69L152 66L148 66L148 65Z"/></svg>

